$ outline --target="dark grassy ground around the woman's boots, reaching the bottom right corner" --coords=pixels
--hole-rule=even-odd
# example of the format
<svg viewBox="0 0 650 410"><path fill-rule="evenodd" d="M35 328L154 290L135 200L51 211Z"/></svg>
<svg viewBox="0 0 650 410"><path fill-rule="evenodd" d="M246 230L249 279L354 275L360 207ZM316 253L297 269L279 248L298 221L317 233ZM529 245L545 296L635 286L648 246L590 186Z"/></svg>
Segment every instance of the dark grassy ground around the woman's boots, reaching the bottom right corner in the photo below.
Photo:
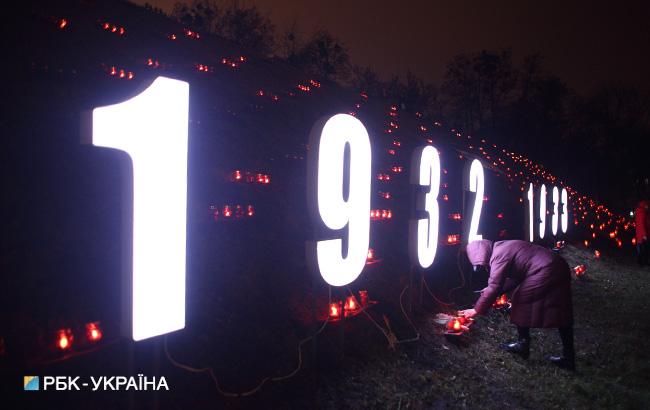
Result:
<svg viewBox="0 0 650 410"><path fill-rule="evenodd" d="M461 344L439 334L433 315L422 315L416 321L422 334L418 342L391 351L378 343L346 341L353 346L331 369L306 371L284 386L270 386L251 401L230 404L235 408L265 402L280 408L647 408L650 269L639 268L631 258L596 260L591 251L571 246L562 255L570 266L584 263L588 269L585 279L573 282L575 374L544 360L561 351L554 330L533 330L531 357L524 361L498 348L515 335L503 315L479 318ZM304 395L296 396L297 391Z"/></svg>

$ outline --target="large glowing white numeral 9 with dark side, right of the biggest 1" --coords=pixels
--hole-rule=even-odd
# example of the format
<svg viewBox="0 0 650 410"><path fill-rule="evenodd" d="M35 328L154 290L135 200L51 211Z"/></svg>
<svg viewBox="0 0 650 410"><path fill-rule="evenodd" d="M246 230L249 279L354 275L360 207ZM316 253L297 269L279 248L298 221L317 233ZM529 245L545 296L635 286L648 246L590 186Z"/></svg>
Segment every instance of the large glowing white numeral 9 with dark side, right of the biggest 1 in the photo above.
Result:
<svg viewBox="0 0 650 410"><path fill-rule="evenodd" d="M349 149L347 167L346 149ZM344 248L342 237L316 242L318 270L325 282L344 286L361 274L370 242L371 150L368 132L361 121L348 114L337 114L316 124L310 136L308 167L307 190L312 214L331 231L341 231L347 226L347 247ZM345 168L349 176L345 175Z"/></svg>

